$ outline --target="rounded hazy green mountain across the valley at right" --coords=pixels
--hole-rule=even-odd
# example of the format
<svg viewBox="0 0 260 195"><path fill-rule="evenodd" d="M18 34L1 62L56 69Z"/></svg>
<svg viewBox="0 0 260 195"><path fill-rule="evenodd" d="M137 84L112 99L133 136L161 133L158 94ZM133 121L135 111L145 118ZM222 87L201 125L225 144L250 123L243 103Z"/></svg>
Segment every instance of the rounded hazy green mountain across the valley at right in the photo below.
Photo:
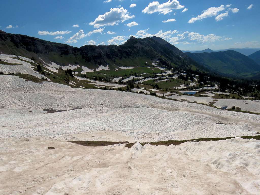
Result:
<svg viewBox="0 0 260 195"><path fill-rule="evenodd" d="M197 63L226 76L252 77L260 71L260 65L237 51L211 53L185 53Z"/></svg>

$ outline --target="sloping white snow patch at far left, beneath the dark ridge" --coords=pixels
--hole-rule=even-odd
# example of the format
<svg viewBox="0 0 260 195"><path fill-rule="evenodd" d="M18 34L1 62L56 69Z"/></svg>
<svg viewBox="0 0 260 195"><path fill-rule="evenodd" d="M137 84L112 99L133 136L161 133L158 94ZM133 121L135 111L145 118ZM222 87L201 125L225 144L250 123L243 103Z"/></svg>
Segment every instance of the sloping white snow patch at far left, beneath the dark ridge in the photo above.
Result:
<svg viewBox="0 0 260 195"><path fill-rule="evenodd" d="M15 57L15 58L13 58L13 57ZM23 60L28 60L28 61L30 60L25 57L23 57L23 58L19 57L19 58L21 58ZM7 64L1 64L1 62L0 62L0 72L3 72L4 74L8 74L9 72L10 73L22 73L22 74L29 74L29 75L35 76L39 79L41 79L42 77L44 79L47 78L46 76L43 76L42 74L40 74L36 70L34 70L33 66L30 63L21 61L18 58L16 58L16 56L14 56L14 55L0 54L0 59L3 60L4 62L14 64L14 65L7 65ZM30 60L30 61L32 61L32 60ZM47 78L47 80L50 81L50 79L48 79L48 78Z"/></svg>

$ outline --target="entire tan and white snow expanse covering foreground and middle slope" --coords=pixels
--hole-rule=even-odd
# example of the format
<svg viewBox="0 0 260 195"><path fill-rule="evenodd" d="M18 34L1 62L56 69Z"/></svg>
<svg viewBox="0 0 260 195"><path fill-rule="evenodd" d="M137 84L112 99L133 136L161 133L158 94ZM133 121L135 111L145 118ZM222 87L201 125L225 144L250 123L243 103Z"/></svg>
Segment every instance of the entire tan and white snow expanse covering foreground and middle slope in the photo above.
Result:
<svg viewBox="0 0 260 195"><path fill-rule="evenodd" d="M11 75L0 96L1 194L259 194L259 140L138 142L255 136L260 115Z"/></svg>

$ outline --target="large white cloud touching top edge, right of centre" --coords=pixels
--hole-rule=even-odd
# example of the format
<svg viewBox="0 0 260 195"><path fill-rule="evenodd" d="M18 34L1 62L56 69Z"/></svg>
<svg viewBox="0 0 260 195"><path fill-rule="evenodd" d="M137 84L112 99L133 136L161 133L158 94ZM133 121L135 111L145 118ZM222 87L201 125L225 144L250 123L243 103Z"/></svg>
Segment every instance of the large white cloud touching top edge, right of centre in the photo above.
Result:
<svg viewBox="0 0 260 195"><path fill-rule="evenodd" d="M159 12L160 14L168 14L173 9L182 9L184 5L181 5L177 0L169 0L168 2L160 4L158 1L149 3L149 5L142 11L143 13L153 14Z"/></svg>

